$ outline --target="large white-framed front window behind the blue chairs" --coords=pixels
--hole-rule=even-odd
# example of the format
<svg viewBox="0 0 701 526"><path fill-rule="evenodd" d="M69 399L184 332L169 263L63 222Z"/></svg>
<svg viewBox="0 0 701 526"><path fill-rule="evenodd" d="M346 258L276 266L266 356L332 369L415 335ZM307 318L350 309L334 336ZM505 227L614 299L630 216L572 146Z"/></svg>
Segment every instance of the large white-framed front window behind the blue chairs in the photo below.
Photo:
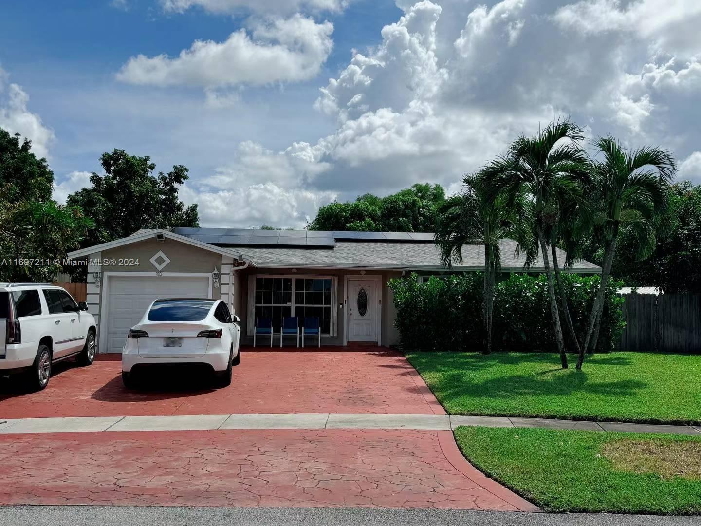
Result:
<svg viewBox="0 0 701 526"><path fill-rule="evenodd" d="M322 335L332 334L332 278L257 276L255 286L255 323L258 318L272 318L273 331L280 332L283 318L297 316L301 327L304 318L315 316Z"/></svg>

